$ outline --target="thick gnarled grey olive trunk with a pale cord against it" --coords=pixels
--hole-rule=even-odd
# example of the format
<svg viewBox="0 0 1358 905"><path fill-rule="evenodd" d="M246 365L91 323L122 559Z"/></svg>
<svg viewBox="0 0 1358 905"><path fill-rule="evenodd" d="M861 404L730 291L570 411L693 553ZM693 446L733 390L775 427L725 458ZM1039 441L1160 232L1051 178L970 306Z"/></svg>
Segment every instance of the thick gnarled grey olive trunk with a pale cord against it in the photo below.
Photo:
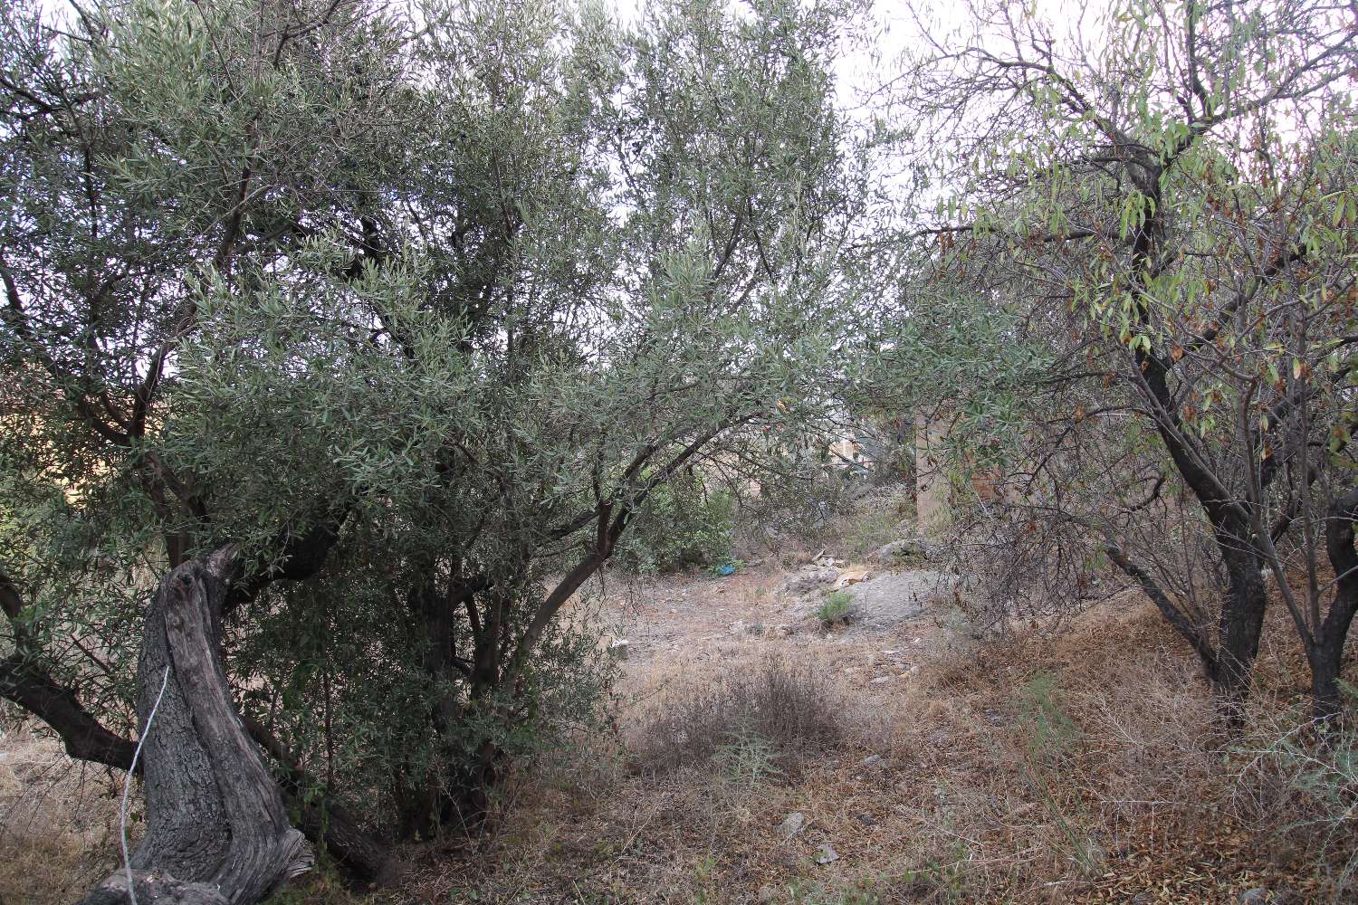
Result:
<svg viewBox="0 0 1358 905"><path fill-rule="evenodd" d="M311 867L221 668L219 617L234 559L225 547L181 564L147 616L137 666L147 834L130 859L141 905L249 905ZM118 871L83 905L130 901Z"/></svg>

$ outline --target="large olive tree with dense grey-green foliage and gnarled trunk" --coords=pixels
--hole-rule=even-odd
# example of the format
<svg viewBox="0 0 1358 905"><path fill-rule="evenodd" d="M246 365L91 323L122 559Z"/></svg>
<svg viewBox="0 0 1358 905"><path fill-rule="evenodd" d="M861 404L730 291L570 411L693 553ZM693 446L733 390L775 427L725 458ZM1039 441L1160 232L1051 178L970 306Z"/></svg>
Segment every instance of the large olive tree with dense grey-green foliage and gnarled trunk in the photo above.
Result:
<svg viewBox="0 0 1358 905"><path fill-rule="evenodd" d="M843 373L850 12L5 11L0 695L140 730L139 900L261 898L293 817L373 875L589 712L562 608Z"/></svg>

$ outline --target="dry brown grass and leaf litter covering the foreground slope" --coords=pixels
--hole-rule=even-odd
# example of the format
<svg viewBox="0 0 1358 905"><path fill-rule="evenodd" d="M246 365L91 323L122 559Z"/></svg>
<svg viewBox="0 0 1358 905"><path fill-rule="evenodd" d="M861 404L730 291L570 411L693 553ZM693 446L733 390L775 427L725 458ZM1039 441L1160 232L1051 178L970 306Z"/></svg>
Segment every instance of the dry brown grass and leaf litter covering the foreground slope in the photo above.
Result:
<svg viewBox="0 0 1358 905"><path fill-rule="evenodd" d="M1304 670L1270 627L1249 735L1225 746L1192 661L1123 597L1059 636L936 638L911 681L854 693L813 769L732 792L693 763L589 772L621 742L531 780L477 852L430 862L416 901L1233 902L1351 901L1347 853L1317 803L1258 763ZM1069 720L1066 731L1050 723ZM1046 720L1046 722L1044 722ZM626 723L626 720L623 720ZM600 742L602 744L602 742ZM864 757L879 754L880 764ZM1258 757L1255 758L1258 761ZM808 828L784 840L789 811ZM1348 825L1351 829L1351 824ZM841 855L816 864L819 845Z"/></svg>

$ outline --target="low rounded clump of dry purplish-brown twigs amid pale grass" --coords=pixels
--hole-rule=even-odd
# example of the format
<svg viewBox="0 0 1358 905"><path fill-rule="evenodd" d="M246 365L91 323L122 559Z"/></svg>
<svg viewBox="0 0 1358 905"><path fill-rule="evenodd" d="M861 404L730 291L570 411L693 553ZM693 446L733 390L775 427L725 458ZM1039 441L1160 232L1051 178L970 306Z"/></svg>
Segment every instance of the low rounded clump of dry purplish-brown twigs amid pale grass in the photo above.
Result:
<svg viewBox="0 0 1358 905"><path fill-rule="evenodd" d="M634 748L649 769L718 761L740 776L773 776L799 753L841 739L841 712L823 673L767 657L669 695L642 720Z"/></svg>

